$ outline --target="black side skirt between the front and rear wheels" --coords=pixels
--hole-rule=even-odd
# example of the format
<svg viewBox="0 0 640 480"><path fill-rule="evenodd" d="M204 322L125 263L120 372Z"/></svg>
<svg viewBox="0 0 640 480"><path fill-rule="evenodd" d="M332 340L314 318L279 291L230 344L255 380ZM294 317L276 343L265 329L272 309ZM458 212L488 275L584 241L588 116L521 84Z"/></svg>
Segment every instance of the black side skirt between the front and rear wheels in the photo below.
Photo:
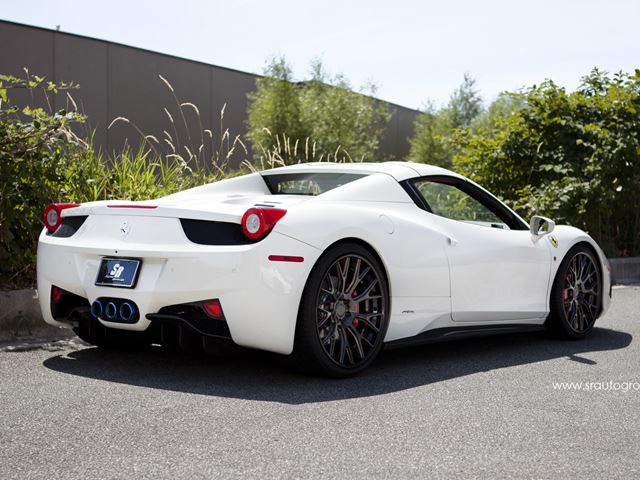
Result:
<svg viewBox="0 0 640 480"><path fill-rule="evenodd" d="M385 349L411 347L429 343L449 342L464 338L484 337L487 335L541 332L544 325L538 324L503 324L503 325L479 325L471 327L445 327L434 328L419 333L413 337L400 338L384 344Z"/></svg>

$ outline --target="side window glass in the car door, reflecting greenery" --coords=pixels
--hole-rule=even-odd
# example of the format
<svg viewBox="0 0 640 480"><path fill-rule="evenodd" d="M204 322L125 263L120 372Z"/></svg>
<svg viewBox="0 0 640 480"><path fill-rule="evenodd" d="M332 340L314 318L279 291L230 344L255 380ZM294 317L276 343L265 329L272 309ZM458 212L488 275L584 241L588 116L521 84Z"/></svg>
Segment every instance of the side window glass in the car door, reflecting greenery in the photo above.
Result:
<svg viewBox="0 0 640 480"><path fill-rule="evenodd" d="M416 189L435 215L486 227L509 227L489 208L455 185L418 180Z"/></svg>

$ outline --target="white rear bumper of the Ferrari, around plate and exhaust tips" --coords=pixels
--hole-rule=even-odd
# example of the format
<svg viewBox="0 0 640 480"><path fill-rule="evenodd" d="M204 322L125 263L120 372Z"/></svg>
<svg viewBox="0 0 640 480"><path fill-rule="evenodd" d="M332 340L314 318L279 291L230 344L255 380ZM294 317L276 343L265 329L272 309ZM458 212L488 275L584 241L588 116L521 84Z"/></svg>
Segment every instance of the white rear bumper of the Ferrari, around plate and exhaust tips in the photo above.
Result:
<svg viewBox="0 0 640 480"><path fill-rule="evenodd" d="M135 302L135 322L100 322L110 328L144 331L149 314L163 307L219 299L231 339L238 345L288 354L293 349L302 290L322 252L286 235L272 232L251 245L158 248L149 245L86 245L44 232L38 243L38 291L45 321L51 312L51 288L59 287L91 304L109 297ZM303 262L271 261L270 255L303 257ZM105 256L142 260L135 288L96 286Z"/></svg>

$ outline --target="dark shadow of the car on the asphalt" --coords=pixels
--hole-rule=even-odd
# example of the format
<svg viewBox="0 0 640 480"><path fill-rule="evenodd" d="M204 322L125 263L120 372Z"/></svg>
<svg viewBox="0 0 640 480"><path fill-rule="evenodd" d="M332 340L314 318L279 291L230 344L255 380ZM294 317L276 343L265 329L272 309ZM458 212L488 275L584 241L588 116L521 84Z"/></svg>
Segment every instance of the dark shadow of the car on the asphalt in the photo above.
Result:
<svg viewBox="0 0 640 480"><path fill-rule="evenodd" d="M286 357L259 351L229 356L166 353L159 348L124 352L87 347L44 361L65 374L199 395L305 404L368 397L442 382L478 372L565 358L581 364L587 352L618 350L629 333L595 328L580 341L541 334L501 335L383 351L363 374L345 380L293 373Z"/></svg>

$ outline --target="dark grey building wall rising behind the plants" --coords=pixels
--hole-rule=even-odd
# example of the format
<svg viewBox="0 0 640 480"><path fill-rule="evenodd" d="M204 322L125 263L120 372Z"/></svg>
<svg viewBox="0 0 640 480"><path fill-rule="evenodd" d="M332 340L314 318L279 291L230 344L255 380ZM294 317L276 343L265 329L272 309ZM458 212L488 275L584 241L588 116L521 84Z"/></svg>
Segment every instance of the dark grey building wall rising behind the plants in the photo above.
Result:
<svg viewBox="0 0 640 480"><path fill-rule="evenodd" d="M245 133L247 93L255 89L256 79L246 72L0 21L0 73L24 77L24 68L55 82L78 83L81 88L71 95L88 116L96 145L108 152L119 151L125 144L135 147L141 140L126 122L115 122L108 128L116 117L124 117L158 141L171 141L183 155L185 146L201 144L202 122L214 136L213 140L205 138L204 153L209 154L220 141L220 113L225 104L222 131L229 130L231 141ZM179 102L197 106L200 120L191 107L182 109L182 118L172 92L159 75L171 83ZM11 100L18 105L35 102L47 106L44 96L31 99L24 91L11 92ZM53 107L65 108L68 102L66 95L57 95ZM393 104L389 108L393 116L380 154L382 158L402 159L409 151L408 138L417 112ZM235 164L245 156L240 148L236 152Z"/></svg>

